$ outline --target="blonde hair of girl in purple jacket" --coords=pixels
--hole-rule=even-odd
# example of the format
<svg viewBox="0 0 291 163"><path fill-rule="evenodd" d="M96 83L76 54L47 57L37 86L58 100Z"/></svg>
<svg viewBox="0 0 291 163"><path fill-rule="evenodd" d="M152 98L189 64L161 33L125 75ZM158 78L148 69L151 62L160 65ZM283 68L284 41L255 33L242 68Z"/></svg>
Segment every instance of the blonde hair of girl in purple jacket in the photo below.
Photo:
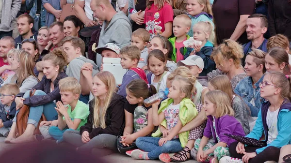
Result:
<svg viewBox="0 0 291 163"><path fill-rule="evenodd" d="M221 90L211 90L206 93L205 97L207 97L211 103L216 105L215 118L220 118L226 115L234 116L234 111L225 92Z"/></svg>

